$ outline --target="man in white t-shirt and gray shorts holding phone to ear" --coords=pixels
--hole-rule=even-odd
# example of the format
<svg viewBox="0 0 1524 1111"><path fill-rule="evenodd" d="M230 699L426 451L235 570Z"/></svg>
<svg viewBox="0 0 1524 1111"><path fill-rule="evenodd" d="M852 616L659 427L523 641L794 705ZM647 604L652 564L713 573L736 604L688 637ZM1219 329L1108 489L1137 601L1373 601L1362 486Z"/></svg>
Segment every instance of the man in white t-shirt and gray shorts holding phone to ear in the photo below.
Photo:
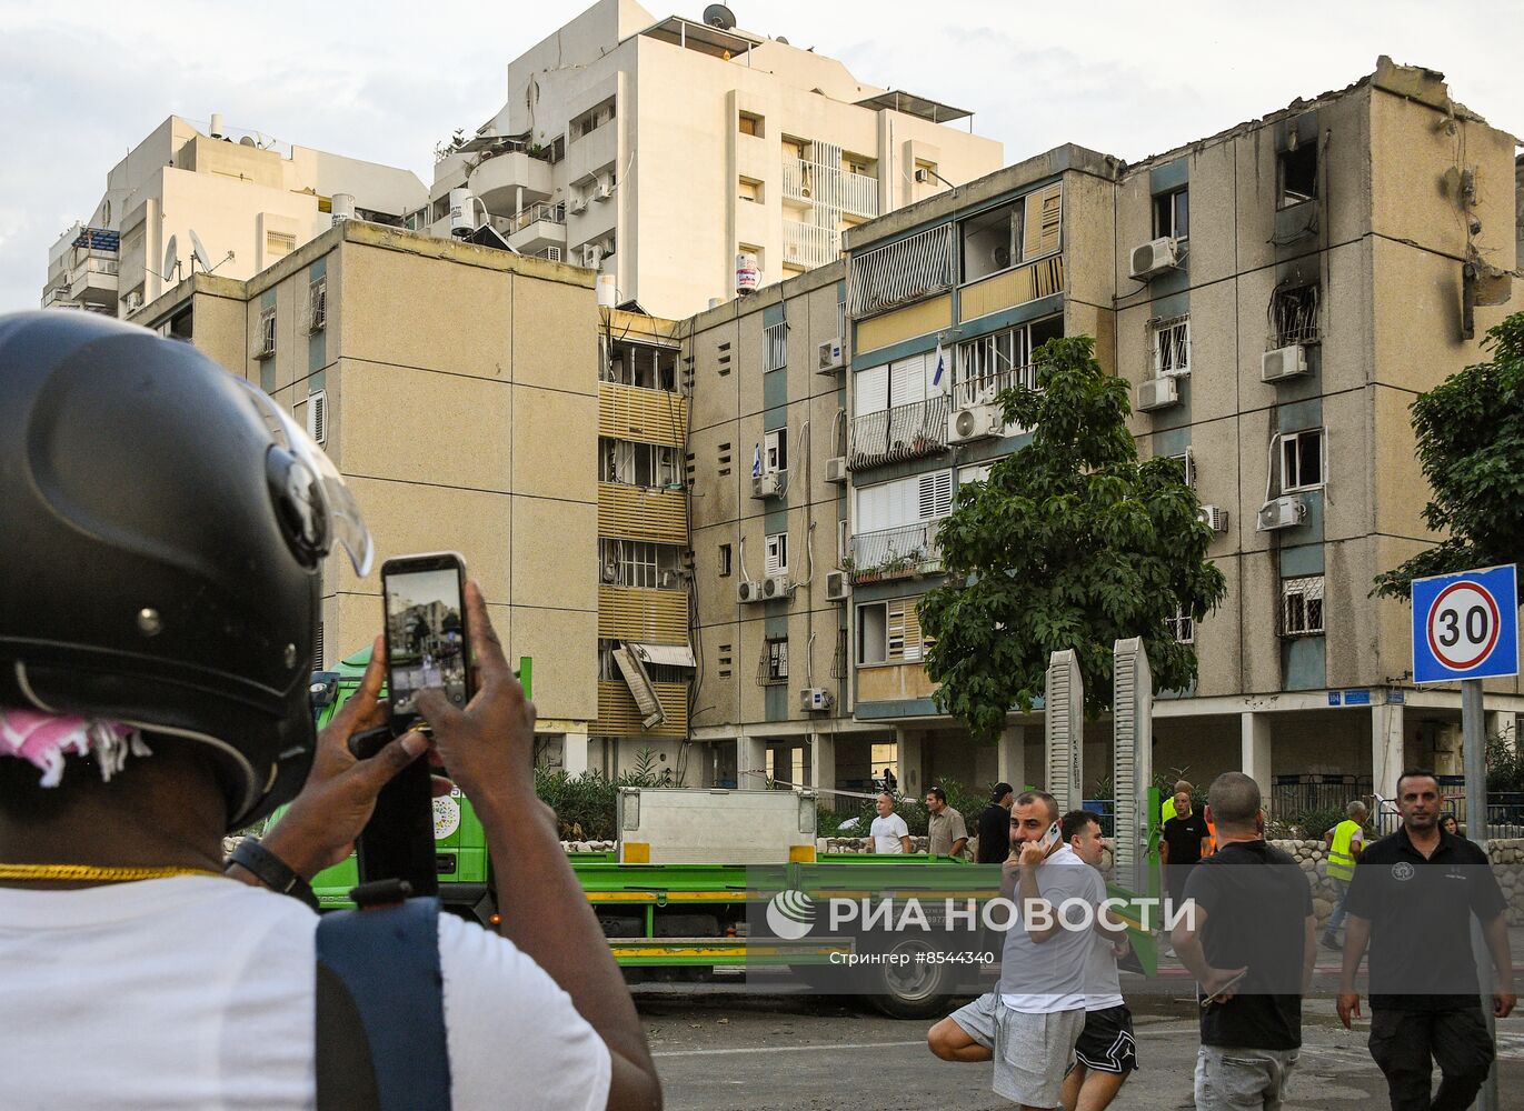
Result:
<svg viewBox="0 0 1524 1111"><path fill-rule="evenodd" d="M1085 969L1106 885L1064 843L1045 791L1026 791L1010 808L1001 895L1013 899L1015 919L1000 983L933 1026L927 1044L943 1061L994 1061L997 1096L1047 1111L1059 1106L1085 1029Z"/></svg>

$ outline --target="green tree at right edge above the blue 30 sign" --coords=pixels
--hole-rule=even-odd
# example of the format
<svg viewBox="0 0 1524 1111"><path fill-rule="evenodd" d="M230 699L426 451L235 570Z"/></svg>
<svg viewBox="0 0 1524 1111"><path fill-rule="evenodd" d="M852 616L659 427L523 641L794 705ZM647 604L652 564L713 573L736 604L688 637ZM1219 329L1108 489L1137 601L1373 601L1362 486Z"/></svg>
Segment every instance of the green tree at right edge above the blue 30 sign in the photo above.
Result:
<svg viewBox="0 0 1524 1111"><path fill-rule="evenodd" d="M1433 492L1423 523L1448 536L1378 575L1372 594L1410 597L1413 579L1512 564L1524 550L1524 312L1487 329L1481 346L1490 363L1451 375L1411 405Z"/></svg>

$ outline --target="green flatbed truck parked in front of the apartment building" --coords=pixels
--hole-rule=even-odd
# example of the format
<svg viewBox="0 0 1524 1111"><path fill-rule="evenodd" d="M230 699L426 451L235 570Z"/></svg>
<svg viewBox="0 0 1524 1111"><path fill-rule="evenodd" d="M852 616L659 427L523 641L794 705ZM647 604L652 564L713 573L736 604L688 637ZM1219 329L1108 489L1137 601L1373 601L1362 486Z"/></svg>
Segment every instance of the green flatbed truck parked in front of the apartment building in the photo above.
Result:
<svg viewBox="0 0 1524 1111"><path fill-rule="evenodd" d="M369 658L366 649L343 660L337 671L312 677L319 727L358 689ZM442 905L494 925L498 907L482 823L459 792L434 803ZM786 829L794 815L796 828ZM832 898L895 895L916 895L933 904L945 898L983 904L998 893L1000 875L992 866L948 856L817 855L814 818L811 792L625 788L616 821L619 847L570 853L570 863L629 980L786 971L823 991L869 995L879 1009L902 1018L942 1013L952 995L988 988L986 962L939 959L936 951L946 949L948 942L934 936L811 930L809 936L788 939L768 930L764 911L776 895L789 890L808 895L817 905L829 905L823 901ZM748 831L757 829L757 823L770 832L751 835ZM728 860L704 860L704 846ZM312 887L319 904L331 910L352 905L349 892L357 882L351 856L319 873ZM1111 895L1131 901L1114 884ZM998 945L989 937L978 930L966 931L956 948L985 954L995 949L992 956L998 960ZM1151 974L1152 936L1134 930L1131 942L1141 971ZM844 954L869 949L898 953L902 959L875 963L850 978L834 966Z"/></svg>

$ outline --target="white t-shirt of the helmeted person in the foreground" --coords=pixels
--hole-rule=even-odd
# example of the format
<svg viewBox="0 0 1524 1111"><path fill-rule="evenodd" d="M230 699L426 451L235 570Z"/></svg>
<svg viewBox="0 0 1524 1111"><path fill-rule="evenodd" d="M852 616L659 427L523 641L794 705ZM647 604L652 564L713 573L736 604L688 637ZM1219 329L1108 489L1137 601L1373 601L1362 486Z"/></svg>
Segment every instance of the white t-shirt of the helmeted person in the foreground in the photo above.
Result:
<svg viewBox="0 0 1524 1111"><path fill-rule="evenodd" d="M311 1108L315 930L218 876L0 888L0 1103ZM607 1045L533 960L440 914L439 962L454 1106L607 1103Z"/></svg>

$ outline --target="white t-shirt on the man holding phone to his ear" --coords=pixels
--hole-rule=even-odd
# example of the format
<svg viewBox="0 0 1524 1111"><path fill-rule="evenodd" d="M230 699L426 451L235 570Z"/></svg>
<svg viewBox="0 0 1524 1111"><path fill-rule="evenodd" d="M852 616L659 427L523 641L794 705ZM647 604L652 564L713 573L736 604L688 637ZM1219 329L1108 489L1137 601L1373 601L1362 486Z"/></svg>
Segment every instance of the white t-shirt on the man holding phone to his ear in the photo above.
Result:
<svg viewBox="0 0 1524 1111"><path fill-rule="evenodd" d="M1065 904L1074 901L1087 902L1091 920L1082 922L1084 911L1070 908L1061 914L1061 920L1073 922L1076 928L1061 927L1058 934L1039 945L1032 940L1018 914L1006 931L1006 946L1000 960L1000 997L1012 1010L1033 1015L1079 1010L1085 1006L1085 969L1096 937L1093 916L1096 907L1106 898L1106 884L1100 873L1067 844L1042 861L1036 878L1038 893L1055 911L1064 911ZM1020 911L1020 887L1012 898ZM1077 928L1081 924L1084 928Z"/></svg>

